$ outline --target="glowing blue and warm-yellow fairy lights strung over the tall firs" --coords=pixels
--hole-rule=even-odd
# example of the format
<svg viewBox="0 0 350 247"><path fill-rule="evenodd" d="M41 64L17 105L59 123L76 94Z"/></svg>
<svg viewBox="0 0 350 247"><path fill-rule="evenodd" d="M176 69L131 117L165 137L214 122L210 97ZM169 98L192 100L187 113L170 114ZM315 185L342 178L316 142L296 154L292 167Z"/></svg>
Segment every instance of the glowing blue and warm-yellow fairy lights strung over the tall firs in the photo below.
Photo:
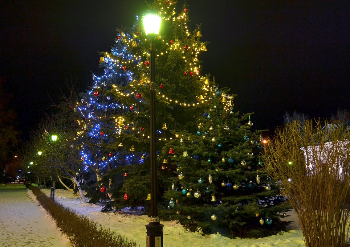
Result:
<svg viewBox="0 0 350 247"><path fill-rule="evenodd" d="M161 4L161 3L159 3ZM189 37L191 34L188 30L188 27L186 25L187 20L187 9L184 8L181 14L179 16L175 17L175 7L173 7L173 3L170 1L166 8L161 7L161 10L159 11L159 14L163 16L163 20L165 21L180 21L180 25L184 26L186 36ZM168 14L170 13L170 14ZM139 20L139 16L136 16L136 20ZM98 94L99 89L103 89L106 87L106 81L109 82L114 77L126 77L128 79L129 83L128 88L130 90L125 91L120 86L112 84L113 90L115 90L116 94L119 97L135 97L135 93L137 91L137 88L140 85L146 85L150 83L149 78L146 76L146 73L142 74L143 78L139 81L135 80L133 78L134 71L130 68L135 68L136 70L140 69L148 69L149 67L143 67L145 65L145 62L142 61L142 57L149 57L149 53L147 51L141 51L141 55L136 55L137 51L133 50L133 48L136 48L138 46L137 42L140 40L138 37L142 33L142 29L137 27L137 22L134 23L133 29L136 30L134 34L125 34L124 32L121 32L120 35L117 36L116 39L116 46L112 48L111 53L104 53L103 57L101 57L100 63L105 66L104 75L103 76L96 76L93 75L94 85L90 90L87 91L87 96L94 95L96 96L96 92ZM197 37L197 39L195 39ZM184 45L181 46L181 41L179 39L170 40L170 42L162 39L162 37L159 35L157 38L162 42L162 45L165 45L166 50L165 52L159 52L156 54L157 57L163 56L165 54L168 54L170 52L179 52L181 53L181 58L183 59L184 63L187 64L187 67L189 68L188 71L184 72L184 75L189 74L191 77L196 76L198 80L203 82L202 91L203 93L197 97L197 100L195 102L187 103L180 100L173 99L170 96L167 96L166 94L163 94L160 89L156 90L156 96L162 101L167 102L169 105L179 105L182 107L197 107L198 105L201 105L205 102L208 102L208 100L211 99L212 96L216 94L215 91L212 90L212 88L209 85L208 78L200 75L201 67L198 65L198 54L200 54L201 51L206 51L207 48L205 46L205 43L200 42L198 38L202 37L201 32L198 31L197 35L193 36L193 39L190 39L192 42L189 46ZM147 42L147 39L145 39ZM149 64L148 64L149 65ZM122 72L119 72L122 71ZM218 96L218 94L216 94ZM222 103L225 103L225 109L226 111L229 111L232 107L232 100L228 100L230 98L227 97L226 94L222 94L223 101ZM224 101L225 98L225 101ZM110 96L107 96L107 100L110 99ZM135 114L140 114L140 112L137 110L138 104L141 104L141 100L138 101L138 103L134 103L132 105L126 106L121 103L100 103L97 100L95 100L94 97L89 97L88 100L82 99L82 102L76 103L75 110L78 111L82 119L76 119L76 122L81 128L81 131L77 132L77 135L83 135L83 133L87 130L89 130L88 126L91 126L92 128L89 130L89 136L90 137L99 137L100 135L104 138L107 138L108 135L106 133L103 133L102 126L100 124L91 124L94 121L97 121L98 119L102 119L104 116L97 117L98 113L97 111L104 111L107 112L108 109L120 109L122 111L129 111L129 109L132 109ZM96 108L91 107L92 105L96 106ZM142 133L142 128L140 126L137 126L134 122L127 123L124 125L125 119L123 117L113 117L115 121L114 126L114 133L117 135L115 138L119 138L120 135L125 133L127 130L131 131L132 133L137 133L140 135L141 138L149 139L150 137ZM120 123L123 122L123 124ZM157 130L157 133L161 133L162 130ZM103 133L103 135L102 135ZM178 136L169 137L169 139L177 138ZM159 138L159 140L166 141L167 138ZM123 145L120 143L119 147L123 147ZM89 159L89 151L85 152L85 147L81 147L81 157L82 161L86 165L96 166L96 162ZM130 152L133 150L130 149ZM130 153L129 155L126 155L123 159L124 162L132 162L132 160L138 159L139 153ZM99 166L106 166L108 162L113 163L115 160L119 160L121 157L118 153L115 155L112 155L109 158L103 157L102 161L99 162ZM143 159L137 160L137 162L142 163ZM86 167L87 169L87 167Z"/></svg>

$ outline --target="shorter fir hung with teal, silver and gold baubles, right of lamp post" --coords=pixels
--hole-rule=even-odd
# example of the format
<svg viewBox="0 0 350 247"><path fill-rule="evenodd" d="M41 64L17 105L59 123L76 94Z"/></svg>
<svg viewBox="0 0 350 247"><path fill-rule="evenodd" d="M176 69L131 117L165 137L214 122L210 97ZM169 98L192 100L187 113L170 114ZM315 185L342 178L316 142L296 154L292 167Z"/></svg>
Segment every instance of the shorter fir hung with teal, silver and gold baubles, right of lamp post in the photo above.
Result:
<svg viewBox="0 0 350 247"><path fill-rule="evenodd" d="M260 171L262 131L251 131L250 114L234 112L235 95L215 84L207 89L206 111L194 130L174 132L179 138L163 148L173 177L161 215L203 233L260 237L285 229L288 223L280 218L290 206L280 185Z"/></svg>

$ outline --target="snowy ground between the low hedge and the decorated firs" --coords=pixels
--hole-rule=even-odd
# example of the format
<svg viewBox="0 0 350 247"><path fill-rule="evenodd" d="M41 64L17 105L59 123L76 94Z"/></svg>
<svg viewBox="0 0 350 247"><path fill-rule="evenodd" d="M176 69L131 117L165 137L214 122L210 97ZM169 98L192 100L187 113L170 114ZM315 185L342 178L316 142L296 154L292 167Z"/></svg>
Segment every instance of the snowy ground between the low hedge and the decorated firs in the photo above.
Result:
<svg viewBox="0 0 350 247"><path fill-rule="evenodd" d="M43 189L45 194L50 195L50 190ZM30 192L28 192L30 193ZM73 197L72 192L55 190L55 200L81 214L87 215L92 220L99 222L112 231L118 232L127 238L133 239L141 247L146 246L146 227L149 218L146 215L129 215L126 213L102 213L103 206L82 203L79 197ZM164 246L176 247L304 247L303 235L299 227L296 215L291 211L286 220L293 220L288 232L281 232L274 236L259 239L229 239L221 234L202 236L200 233L191 233L176 221L162 221Z"/></svg>

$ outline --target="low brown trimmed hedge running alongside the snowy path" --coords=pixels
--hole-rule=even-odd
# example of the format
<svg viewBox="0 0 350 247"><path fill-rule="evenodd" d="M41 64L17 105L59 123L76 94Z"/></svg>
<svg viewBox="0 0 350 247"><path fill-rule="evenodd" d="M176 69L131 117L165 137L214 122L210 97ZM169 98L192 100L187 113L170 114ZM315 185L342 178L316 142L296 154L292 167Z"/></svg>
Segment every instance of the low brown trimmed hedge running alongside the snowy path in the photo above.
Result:
<svg viewBox="0 0 350 247"><path fill-rule="evenodd" d="M136 247L136 242L112 232L87 216L77 213L50 199L38 188L26 185L33 191L39 203L54 218L57 227L66 234L75 247Z"/></svg>

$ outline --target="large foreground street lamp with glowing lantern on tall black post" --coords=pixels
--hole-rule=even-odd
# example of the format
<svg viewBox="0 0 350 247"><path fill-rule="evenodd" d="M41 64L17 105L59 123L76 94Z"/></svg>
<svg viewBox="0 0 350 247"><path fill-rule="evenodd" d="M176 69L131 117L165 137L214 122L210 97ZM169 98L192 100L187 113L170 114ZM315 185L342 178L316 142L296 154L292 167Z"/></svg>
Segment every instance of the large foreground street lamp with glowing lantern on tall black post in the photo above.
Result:
<svg viewBox="0 0 350 247"><path fill-rule="evenodd" d="M142 17L144 23L144 29L146 35L151 40L151 105L150 105L150 137L151 137L151 150L150 150L150 159L151 159L151 218L149 219L149 224L146 225L147 230L147 247L163 247L163 226L160 224L158 217L158 208L157 208L157 198L156 198L156 149L155 149L155 48L154 48L154 39L158 36L160 23L162 16L156 13L145 14Z"/></svg>

